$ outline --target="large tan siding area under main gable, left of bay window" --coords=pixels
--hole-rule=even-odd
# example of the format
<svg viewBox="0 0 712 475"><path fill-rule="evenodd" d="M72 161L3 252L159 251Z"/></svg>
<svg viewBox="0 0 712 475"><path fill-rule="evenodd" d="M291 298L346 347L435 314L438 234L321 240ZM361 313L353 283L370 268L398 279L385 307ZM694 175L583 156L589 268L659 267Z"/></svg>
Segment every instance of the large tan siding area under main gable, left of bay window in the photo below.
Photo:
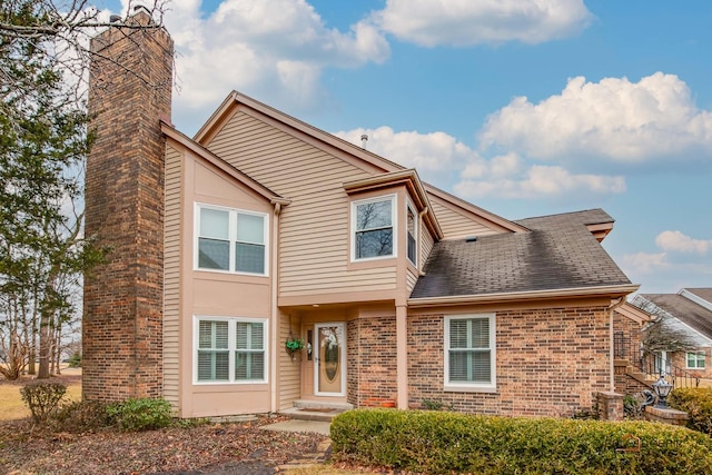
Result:
<svg viewBox="0 0 712 475"><path fill-rule="evenodd" d="M279 217L280 296L396 288L395 264L347 267L349 199L343 184L368 172L241 111L208 148L291 200Z"/></svg>

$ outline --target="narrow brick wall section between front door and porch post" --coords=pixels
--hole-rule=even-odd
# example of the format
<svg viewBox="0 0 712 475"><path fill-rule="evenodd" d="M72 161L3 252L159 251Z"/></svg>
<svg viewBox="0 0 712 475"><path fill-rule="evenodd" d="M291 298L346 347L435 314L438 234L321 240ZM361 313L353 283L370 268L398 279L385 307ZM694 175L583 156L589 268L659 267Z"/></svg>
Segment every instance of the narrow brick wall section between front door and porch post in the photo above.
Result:
<svg viewBox="0 0 712 475"><path fill-rule="evenodd" d="M359 318L350 320L348 338L348 402L356 407L379 406L395 399L396 318Z"/></svg>

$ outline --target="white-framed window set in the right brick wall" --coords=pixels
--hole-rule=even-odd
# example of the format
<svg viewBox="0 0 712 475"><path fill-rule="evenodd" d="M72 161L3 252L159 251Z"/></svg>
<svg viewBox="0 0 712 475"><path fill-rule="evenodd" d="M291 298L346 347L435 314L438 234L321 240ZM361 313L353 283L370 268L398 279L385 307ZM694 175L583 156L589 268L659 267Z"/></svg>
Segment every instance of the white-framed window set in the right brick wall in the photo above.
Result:
<svg viewBox="0 0 712 475"><path fill-rule="evenodd" d="M494 314L445 317L445 390L496 388Z"/></svg>

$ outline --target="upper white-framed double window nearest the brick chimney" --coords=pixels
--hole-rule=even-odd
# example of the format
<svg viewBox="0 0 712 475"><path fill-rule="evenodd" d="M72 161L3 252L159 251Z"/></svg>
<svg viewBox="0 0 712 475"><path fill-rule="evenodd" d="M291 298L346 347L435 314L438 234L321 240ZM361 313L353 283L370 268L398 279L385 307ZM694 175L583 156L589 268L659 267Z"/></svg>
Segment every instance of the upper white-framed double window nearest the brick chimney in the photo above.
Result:
<svg viewBox="0 0 712 475"><path fill-rule="evenodd" d="M197 205L196 268L267 275L267 215Z"/></svg>

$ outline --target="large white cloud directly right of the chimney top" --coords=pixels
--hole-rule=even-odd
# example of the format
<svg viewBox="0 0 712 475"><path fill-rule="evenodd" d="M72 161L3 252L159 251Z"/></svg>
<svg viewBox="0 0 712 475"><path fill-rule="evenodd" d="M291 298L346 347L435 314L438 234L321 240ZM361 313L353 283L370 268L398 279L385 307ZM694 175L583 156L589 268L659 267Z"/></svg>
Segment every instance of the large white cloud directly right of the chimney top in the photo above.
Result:
<svg viewBox="0 0 712 475"><path fill-rule="evenodd" d="M324 68L382 62L390 53L375 26L329 29L305 0L224 0L207 17L198 0L174 2L165 23L177 51L175 116L207 115L234 89L287 110L315 107Z"/></svg>

